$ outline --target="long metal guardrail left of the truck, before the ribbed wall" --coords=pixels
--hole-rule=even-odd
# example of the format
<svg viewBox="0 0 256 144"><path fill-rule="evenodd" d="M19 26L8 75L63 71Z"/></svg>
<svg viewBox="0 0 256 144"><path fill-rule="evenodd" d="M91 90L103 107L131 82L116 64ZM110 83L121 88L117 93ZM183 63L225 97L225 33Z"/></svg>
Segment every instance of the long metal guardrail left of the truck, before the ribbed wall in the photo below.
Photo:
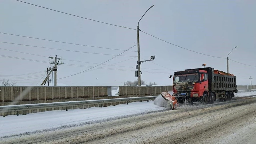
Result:
<svg viewBox="0 0 256 144"><path fill-rule="evenodd" d="M7 106L0 106L0 112L12 111L12 110L51 108L51 107L61 107L61 106L66 107L66 111L67 111L67 106L94 105L94 104L104 104L104 103L112 103L112 102L127 102L127 104L128 104L129 101L154 100L156 97L158 97L158 96L97 99L97 100L87 100L87 101L36 103L36 104L25 104L25 105L7 105Z"/></svg>

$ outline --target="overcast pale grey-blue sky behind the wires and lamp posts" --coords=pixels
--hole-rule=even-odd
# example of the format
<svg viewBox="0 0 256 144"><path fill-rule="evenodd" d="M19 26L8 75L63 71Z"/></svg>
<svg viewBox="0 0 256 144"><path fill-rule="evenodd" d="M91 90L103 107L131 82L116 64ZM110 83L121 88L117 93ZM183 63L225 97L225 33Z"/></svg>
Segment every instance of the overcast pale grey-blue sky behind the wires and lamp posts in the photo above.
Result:
<svg viewBox="0 0 256 144"><path fill-rule="evenodd" d="M140 30L186 49L222 58L194 53L140 31L141 60L155 55L154 61L142 63L141 79L146 82L156 82L158 85L171 85L172 80L169 79L169 75L174 71L202 67L203 63L206 63L207 67L226 72L227 59L225 58L237 46L230 53L229 58L252 66L230 60L229 73L237 76L238 85L250 85L250 76L253 77L252 84L256 84L256 1L23 1L133 29L136 29L145 11L154 5L140 21ZM15 0L1 0L0 19L1 33L111 48L71 45L0 34L0 55L9 56L8 58L0 56L0 77L15 80L17 85L36 85L38 82L40 85L47 67L51 66L47 63L49 62L47 57L50 55L58 55L62 58L61 61L64 64L58 66L57 72L57 78L62 78L96 66L97 64L94 63L107 61L137 43L136 30L78 18ZM45 49L2 42L112 55ZM134 51L137 51L137 45L130 50L122 54L125 56L118 56L98 66L101 67L100 69L94 68L71 77L58 79L58 83L76 86L117 86L123 85L128 80L136 80L134 71L137 52Z"/></svg>

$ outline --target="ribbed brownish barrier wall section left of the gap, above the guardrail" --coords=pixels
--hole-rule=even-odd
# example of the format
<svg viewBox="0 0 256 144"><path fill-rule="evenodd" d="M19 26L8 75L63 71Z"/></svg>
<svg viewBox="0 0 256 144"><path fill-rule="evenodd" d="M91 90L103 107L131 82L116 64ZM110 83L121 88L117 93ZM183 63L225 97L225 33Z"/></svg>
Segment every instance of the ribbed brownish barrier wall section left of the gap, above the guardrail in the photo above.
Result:
<svg viewBox="0 0 256 144"><path fill-rule="evenodd" d="M28 90L29 89L29 90ZM19 97L22 95L21 97ZM0 102L106 97L106 86L0 86Z"/></svg>

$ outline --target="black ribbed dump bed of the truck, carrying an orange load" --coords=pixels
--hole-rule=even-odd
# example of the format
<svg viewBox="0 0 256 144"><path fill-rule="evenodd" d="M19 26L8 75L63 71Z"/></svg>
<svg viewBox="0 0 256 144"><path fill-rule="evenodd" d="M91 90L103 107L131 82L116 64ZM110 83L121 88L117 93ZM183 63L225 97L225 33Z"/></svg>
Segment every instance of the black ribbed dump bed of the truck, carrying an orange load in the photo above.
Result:
<svg viewBox="0 0 256 144"><path fill-rule="evenodd" d="M187 69L196 70L196 69ZM212 67L198 68L208 73L209 91L237 91L237 77Z"/></svg>

